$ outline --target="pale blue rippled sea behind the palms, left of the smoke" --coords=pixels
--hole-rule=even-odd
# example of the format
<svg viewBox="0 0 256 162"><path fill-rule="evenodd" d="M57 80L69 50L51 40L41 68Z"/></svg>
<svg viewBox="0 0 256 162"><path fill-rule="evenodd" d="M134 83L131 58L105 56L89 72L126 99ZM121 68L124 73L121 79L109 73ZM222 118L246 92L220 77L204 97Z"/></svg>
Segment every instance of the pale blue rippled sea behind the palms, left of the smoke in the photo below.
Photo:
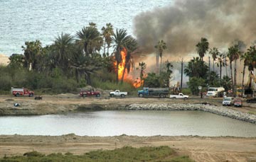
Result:
<svg viewBox="0 0 256 162"><path fill-rule="evenodd" d="M26 41L53 43L60 33L75 33L90 22L127 29L144 11L172 5L173 0L0 0L0 54L22 53Z"/></svg>

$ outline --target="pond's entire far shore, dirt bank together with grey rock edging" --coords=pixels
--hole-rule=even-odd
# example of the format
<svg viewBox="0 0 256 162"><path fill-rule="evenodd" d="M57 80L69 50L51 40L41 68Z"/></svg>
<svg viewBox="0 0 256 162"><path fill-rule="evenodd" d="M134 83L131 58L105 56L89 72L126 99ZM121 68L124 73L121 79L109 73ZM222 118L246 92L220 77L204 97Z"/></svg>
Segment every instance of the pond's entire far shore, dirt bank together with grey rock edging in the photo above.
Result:
<svg viewBox="0 0 256 162"><path fill-rule="evenodd" d="M241 108L223 107L216 99L171 100L169 98L78 98L77 96L44 96L33 98L0 98L0 116L50 115L80 110L201 110L256 124L256 115ZM15 107L14 104L20 106ZM251 108L256 110L256 108Z"/></svg>

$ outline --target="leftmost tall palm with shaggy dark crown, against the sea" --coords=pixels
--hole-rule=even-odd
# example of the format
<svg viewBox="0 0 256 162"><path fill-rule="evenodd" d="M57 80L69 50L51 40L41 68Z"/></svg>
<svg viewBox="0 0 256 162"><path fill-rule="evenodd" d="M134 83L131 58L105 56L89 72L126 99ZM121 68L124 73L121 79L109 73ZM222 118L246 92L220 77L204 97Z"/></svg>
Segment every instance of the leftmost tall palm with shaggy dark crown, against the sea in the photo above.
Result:
<svg viewBox="0 0 256 162"><path fill-rule="evenodd" d="M24 51L26 67L28 67L29 71L31 71L36 66L36 56L40 54L42 44L39 40L36 40L35 42L25 42L25 45L26 47L21 47Z"/></svg>

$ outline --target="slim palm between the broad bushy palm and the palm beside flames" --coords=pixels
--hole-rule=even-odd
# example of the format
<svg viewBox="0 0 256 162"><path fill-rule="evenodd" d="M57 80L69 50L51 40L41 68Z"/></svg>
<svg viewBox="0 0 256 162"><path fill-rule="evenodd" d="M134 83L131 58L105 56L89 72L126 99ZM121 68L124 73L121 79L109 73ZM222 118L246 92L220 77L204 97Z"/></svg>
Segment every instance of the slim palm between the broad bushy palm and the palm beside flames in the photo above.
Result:
<svg viewBox="0 0 256 162"><path fill-rule="evenodd" d="M114 35L113 25L111 23L106 24L106 28L102 27L102 35L104 37L104 55L106 54L107 44L107 56L109 55L110 44L112 42L111 37Z"/></svg>

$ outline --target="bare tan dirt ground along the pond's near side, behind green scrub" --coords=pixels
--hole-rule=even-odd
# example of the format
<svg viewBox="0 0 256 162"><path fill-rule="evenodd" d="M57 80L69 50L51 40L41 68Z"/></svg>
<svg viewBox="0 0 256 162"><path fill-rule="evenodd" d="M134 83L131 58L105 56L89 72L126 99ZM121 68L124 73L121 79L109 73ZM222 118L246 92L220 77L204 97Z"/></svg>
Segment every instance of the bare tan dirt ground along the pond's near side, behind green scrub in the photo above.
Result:
<svg viewBox="0 0 256 162"><path fill-rule="evenodd" d="M43 154L84 154L97 149L116 149L122 146L170 146L178 154L195 161L256 161L256 138L237 137L80 137L0 135L0 156L22 155L28 151Z"/></svg>

